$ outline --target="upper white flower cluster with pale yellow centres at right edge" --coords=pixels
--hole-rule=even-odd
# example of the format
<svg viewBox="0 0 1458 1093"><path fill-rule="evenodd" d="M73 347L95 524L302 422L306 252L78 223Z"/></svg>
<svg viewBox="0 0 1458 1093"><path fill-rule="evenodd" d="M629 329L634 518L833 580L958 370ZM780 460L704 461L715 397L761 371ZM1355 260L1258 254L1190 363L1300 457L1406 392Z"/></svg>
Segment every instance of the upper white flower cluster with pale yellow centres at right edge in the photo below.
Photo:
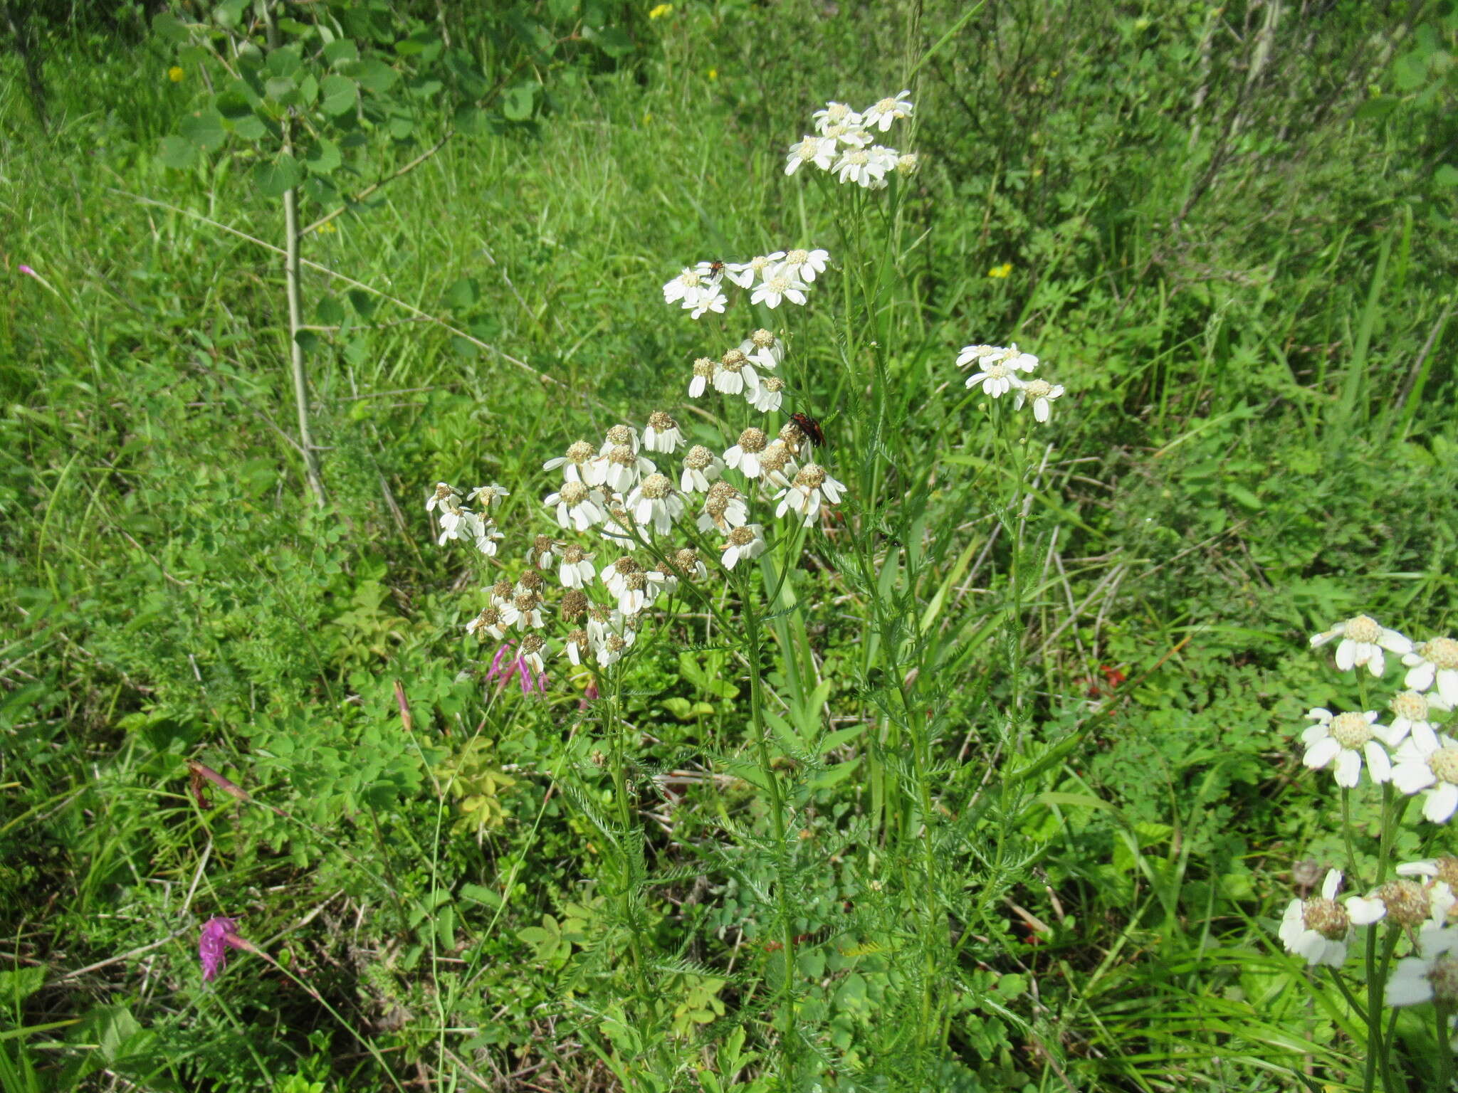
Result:
<svg viewBox="0 0 1458 1093"><path fill-rule="evenodd" d="M1365 667L1376 678L1387 669L1387 653L1397 653L1407 666L1404 691L1388 704L1391 718L1379 723L1375 710L1333 713L1315 707L1306 714L1315 721L1301 739L1303 762L1331 767L1337 786L1352 788L1366 767L1373 783L1391 781L1403 793L1424 793L1423 816L1446 823L1458 810L1458 740L1439 732L1439 716L1458 701L1458 641L1436 637L1414 643L1369 615L1356 615L1331 630L1315 634L1312 647L1337 644L1337 667ZM1391 753L1389 753L1391 752Z"/></svg>

